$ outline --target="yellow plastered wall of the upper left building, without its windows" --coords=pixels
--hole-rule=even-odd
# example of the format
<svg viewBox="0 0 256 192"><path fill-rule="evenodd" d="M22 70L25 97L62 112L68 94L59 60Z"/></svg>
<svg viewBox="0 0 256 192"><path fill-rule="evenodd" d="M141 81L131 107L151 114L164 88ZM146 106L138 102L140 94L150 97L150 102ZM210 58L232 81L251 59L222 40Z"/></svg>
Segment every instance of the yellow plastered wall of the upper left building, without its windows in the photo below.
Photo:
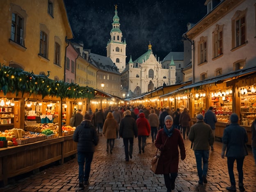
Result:
<svg viewBox="0 0 256 192"><path fill-rule="evenodd" d="M53 16L48 14L48 1L4 0L0 1L0 63L18 64L25 71L35 74L50 71L49 78L64 80L64 62L67 43L65 37L73 37L69 26L64 2L52 0ZM26 15L23 46L10 41L12 10L20 10ZM48 35L48 57L39 57L40 26L46 27ZM56 38L60 44L60 66L54 64Z"/></svg>

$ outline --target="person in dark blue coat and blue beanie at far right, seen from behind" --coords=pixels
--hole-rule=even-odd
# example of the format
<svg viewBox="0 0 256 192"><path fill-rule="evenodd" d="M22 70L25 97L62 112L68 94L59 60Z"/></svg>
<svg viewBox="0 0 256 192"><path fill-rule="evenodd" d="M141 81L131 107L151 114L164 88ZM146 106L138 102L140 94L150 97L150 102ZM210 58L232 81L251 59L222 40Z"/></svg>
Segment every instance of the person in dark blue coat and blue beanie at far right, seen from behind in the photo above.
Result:
<svg viewBox="0 0 256 192"><path fill-rule="evenodd" d="M238 115L233 113L230 115L229 120L231 124L224 129L222 136L222 158L226 151L228 159L228 170L231 186L226 187L229 191L236 191L235 176L234 176L234 162L236 160L238 170L238 187L240 191L245 191L243 184L244 173L242 170L245 156L248 155L246 143L248 136L245 128L238 125Z"/></svg>

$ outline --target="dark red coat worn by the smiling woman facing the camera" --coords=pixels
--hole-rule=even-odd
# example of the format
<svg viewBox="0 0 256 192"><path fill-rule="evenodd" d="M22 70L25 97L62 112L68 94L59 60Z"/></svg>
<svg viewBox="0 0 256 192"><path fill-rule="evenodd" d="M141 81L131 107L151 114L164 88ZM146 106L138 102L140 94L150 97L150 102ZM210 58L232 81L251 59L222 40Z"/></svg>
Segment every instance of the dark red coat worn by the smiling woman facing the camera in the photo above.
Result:
<svg viewBox="0 0 256 192"><path fill-rule="evenodd" d="M166 139L167 142L165 143ZM184 160L186 157L185 146L180 131L178 129L174 129L171 137L168 137L165 130L160 129L156 136L155 146L160 149L163 144L165 144L165 146L161 151L161 155L158 160L159 169L157 174L178 173L178 146L181 151L181 159Z"/></svg>

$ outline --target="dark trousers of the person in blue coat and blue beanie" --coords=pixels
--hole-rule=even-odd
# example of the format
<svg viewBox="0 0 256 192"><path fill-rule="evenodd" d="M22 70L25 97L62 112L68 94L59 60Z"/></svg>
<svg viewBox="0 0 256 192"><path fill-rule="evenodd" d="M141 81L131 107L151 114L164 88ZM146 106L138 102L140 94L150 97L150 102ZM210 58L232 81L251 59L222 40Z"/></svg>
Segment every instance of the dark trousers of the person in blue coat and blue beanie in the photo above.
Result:
<svg viewBox="0 0 256 192"><path fill-rule="evenodd" d="M235 185L235 176L234 176L234 162L236 160L236 168L238 170L238 181L239 183L243 183L244 172L242 170L244 164L245 157L242 158L234 158L228 157L228 170L229 170L229 179L231 185Z"/></svg>

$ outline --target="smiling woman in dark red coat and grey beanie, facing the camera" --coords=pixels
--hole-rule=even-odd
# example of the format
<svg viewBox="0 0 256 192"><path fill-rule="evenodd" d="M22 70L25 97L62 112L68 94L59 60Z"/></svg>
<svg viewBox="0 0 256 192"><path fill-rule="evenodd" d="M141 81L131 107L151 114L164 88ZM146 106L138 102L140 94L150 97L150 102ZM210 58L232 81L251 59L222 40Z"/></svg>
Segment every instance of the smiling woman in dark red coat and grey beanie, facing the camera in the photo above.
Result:
<svg viewBox="0 0 256 192"><path fill-rule="evenodd" d="M181 133L174 128L170 115L165 117L164 128L158 131L155 146L161 151L158 160L159 173L164 175L167 192L171 192L175 188L175 179L178 176L178 146L181 151L181 160L186 158L186 152Z"/></svg>

